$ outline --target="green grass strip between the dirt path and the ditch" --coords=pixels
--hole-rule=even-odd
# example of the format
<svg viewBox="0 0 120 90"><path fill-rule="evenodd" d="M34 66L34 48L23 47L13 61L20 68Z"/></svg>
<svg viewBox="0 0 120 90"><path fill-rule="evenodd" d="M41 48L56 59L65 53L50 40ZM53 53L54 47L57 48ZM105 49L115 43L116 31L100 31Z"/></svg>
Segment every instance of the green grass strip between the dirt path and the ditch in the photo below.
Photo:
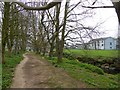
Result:
<svg viewBox="0 0 120 90"><path fill-rule="evenodd" d="M48 58L49 59L49 58ZM117 88L118 75L104 73L100 68L81 63L77 60L63 59L63 63L57 64L57 59L48 60L55 67L63 68L68 74L84 83L89 88Z"/></svg>

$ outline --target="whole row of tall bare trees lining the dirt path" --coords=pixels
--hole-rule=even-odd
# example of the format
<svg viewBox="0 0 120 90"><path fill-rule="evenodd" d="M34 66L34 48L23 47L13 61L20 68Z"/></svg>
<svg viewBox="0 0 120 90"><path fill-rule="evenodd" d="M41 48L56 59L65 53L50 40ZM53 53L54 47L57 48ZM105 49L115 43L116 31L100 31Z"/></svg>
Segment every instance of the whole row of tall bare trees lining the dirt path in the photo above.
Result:
<svg viewBox="0 0 120 90"><path fill-rule="evenodd" d="M64 45L68 44L68 41L78 42L79 39L79 42L84 43L84 38L92 38L93 34L99 34L98 28L101 23L94 27L81 23L94 14L91 8L81 10L83 4L81 1L76 4L54 1L1 2L2 62L5 63L6 49L10 55L12 52L17 54L26 51L28 47L42 55L49 53L49 57L53 56L55 50L58 63L62 62ZM81 11L75 13L76 8ZM77 37L71 37L73 34Z"/></svg>

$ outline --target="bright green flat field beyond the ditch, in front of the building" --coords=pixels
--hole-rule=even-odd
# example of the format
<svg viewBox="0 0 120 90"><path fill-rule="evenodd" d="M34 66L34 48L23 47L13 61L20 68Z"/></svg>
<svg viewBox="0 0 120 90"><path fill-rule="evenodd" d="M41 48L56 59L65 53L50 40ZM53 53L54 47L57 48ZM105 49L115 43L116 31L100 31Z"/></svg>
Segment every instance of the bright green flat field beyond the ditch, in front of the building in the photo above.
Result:
<svg viewBox="0 0 120 90"><path fill-rule="evenodd" d="M77 56L85 55L90 57L118 57L118 50L78 50L70 49L65 50L67 53L71 53Z"/></svg>

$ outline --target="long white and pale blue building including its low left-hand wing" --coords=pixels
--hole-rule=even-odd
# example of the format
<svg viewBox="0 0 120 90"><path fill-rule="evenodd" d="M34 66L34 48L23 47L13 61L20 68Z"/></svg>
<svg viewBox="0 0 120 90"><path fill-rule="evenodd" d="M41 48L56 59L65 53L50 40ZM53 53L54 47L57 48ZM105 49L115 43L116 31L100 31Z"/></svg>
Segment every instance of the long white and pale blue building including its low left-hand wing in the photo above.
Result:
<svg viewBox="0 0 120 90"><path fill-rule="evenodd" d="M119 49L118 39L113 37L92 39L88 43L79 44L78 49L115 50Z"/></svg>

